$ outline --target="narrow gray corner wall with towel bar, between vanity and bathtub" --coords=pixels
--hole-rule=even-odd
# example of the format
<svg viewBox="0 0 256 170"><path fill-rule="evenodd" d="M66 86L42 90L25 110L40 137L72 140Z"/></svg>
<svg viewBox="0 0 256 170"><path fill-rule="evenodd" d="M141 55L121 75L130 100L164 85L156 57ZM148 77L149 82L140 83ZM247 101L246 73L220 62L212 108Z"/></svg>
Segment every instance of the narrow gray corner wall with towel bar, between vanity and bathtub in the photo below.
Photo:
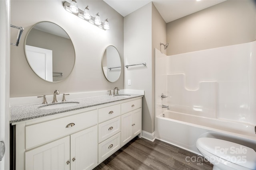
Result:
<svg viewBox="0 0 256 170"><path fill-rule="evenodd" d="M142 130L154 132L154 48L166 42L166 23L150 2L124 17L124 64L140 64L125 68L125 89L144 90ZM131 80L131 86L128 80Z"/></svg>

